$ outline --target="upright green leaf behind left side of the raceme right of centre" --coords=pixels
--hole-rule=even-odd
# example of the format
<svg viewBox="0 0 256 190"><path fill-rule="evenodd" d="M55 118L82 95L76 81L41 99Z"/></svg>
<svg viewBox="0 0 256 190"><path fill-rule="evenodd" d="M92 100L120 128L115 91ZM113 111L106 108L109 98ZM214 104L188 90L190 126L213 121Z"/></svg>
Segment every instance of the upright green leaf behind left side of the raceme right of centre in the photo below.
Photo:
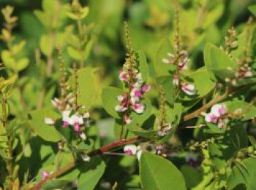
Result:
<svg viewBox="0 0 256 190"><path fill-rule="evenodd" d="M157 50L157 55L154 58L154 69L156 71L157 76L166 76L170 74L170 71L175 71L176 66L162 62L162 59L168 58L167 53L171 52L174 52L174 50L170 39L163 39Z"/></svg>

